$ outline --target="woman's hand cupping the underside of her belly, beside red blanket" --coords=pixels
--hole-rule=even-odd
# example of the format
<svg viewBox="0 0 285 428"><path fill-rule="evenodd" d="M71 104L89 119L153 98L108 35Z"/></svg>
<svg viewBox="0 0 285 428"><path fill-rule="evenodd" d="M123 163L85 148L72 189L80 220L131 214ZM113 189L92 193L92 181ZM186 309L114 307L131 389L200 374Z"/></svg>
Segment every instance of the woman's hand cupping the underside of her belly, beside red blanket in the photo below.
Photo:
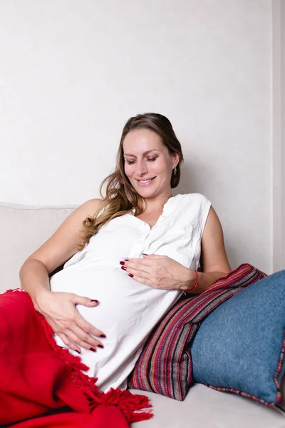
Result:
<svg viewBox="0 0 285 428"><path fill-rule="evenodd" d="M78 296L72 292L51 292L45 290L36 298L36 310L40 312L53 331L61 337L66 346L81 353L81 347L90 350L103 347L95 337L105 337L104 333L84 320L76 305L95 307L98 301ZM95 337L93 337L95 336Z"/></svg>

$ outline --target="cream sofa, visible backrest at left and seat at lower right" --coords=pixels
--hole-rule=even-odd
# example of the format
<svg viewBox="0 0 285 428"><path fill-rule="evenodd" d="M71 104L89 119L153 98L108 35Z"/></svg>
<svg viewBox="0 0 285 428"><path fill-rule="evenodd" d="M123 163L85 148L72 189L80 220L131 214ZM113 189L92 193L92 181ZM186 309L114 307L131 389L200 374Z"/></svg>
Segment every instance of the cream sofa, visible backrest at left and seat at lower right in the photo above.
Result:
<svg viewBox="0 0 285 428"><path fill-rule="evenodd" d="M0 292L20 286L19 270L28 255L47 240L75 206L28 206L0 203ZM282 402L273 408L229 392L195 383L183 402L152 392L154 417L132 424L133 428L285 428L285 376Z"/></svg>

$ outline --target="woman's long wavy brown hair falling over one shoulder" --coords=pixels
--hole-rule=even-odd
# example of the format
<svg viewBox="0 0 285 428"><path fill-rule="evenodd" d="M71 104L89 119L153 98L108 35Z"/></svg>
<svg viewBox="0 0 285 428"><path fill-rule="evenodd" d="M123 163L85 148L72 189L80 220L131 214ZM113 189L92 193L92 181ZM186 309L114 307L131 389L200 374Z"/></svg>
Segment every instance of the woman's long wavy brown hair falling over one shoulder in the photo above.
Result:
<svg viewBox="0 0 285 428"><path fill-rule="evenodd" d="M123 142L125 136L130 131L138 129L150 129L160 136L162 143L168 148L170 154L179 153L180 160L176 167L176 174L172 173L171 188L176 188L180 182L180 165L183 162L183 154L180 142L173 131L170 121L162 114L145 113L138 114L130 118L123 128L120 138L120 146L117 153L115 171L108 175L100 185L100 195L103 198L100 208L95 212L93 217L88 217L83 221L81 229L82 244L79 250L83 250L90 238L96 235L105 223L113 218L130 213L135 208L135 213L140 215L143 212L143 199L130 184L130 180L125 175L125 159L123 156ZM103 196L103 186L105 196Z"/></svg>

